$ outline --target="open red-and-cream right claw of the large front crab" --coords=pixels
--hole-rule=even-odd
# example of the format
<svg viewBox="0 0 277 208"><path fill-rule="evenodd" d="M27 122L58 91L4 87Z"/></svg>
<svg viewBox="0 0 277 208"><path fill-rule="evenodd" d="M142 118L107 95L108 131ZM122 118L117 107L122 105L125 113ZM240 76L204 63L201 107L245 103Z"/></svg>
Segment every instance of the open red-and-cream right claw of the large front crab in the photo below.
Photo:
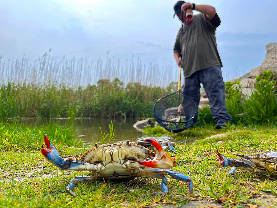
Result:
<svg viewBox="0 0 277 208"><path fill-rule="evenodd" d="M175 158L169 156L162 148L162 146L155 140L146 139L145 142L150 142L156 150L156 156L153 159L147 159L138 161L139 164L145 165L151 168L164 168L168 169L176 165Z"/></svg>

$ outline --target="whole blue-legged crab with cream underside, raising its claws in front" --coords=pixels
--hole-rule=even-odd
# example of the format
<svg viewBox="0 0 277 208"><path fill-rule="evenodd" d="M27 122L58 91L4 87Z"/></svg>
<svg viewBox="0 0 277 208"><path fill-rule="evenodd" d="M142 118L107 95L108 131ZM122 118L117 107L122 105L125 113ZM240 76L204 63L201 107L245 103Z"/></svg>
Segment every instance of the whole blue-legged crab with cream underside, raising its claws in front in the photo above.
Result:
<svg viewBox="0 0 277 208"><path fill-rule="evenodd" d="M168 193L167 179L165 175L187 182L189 192L192 194L192 180L190 177L169 168L176 165L175 158L169 156L158 142L146 139L156 150L154 154L148 148L133 144L114 143L97 145L86 153L81 159L63 159L59 156L56 147L44 136L45 148L41 147L43 157L55 166L63 170L89 171L91 176L74 177L66 186L66 190L76 197L72 189L80 181L91 181L97 179L125 180L135 177L148 176L162 179L161 188L163 194ZM145 159L146 158L146 159Z"/></svg>

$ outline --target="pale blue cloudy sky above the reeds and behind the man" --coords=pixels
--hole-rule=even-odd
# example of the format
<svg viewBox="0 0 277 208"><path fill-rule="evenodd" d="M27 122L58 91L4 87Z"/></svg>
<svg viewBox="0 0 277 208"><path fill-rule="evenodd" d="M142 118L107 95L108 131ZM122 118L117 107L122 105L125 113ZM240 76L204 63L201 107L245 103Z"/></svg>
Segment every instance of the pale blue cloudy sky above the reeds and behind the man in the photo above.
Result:
<svg viewBox="0 0 277 208"><path fill-rule="evenodd" d="M159 66L172 63L181 22L171 0L0 0L0 56L38 59L51 49L54 59L89 61L140 58ZM214 6L225 80L261 65L267 43L277 42L276 0L195 0ZM194 11L194 14L197 12ZM2 62L3 63L3 62Z"/></svg>

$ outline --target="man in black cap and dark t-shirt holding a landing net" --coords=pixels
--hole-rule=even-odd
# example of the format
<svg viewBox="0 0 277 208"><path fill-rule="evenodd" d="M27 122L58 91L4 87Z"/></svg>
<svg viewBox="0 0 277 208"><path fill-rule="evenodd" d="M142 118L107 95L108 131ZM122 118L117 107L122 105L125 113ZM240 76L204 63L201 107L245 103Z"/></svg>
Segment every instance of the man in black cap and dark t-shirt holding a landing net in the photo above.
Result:
<svg viewBox="0 0 277 208"><path fill-rule="evenodd" d="M186 18L186 10L197 10L200 14ZM217 50L215 30L220 18L215 8L178 1L175 14L183 22L174 45L174 58L184 70L183 94L199 105L200 83L203 84L210 102L210 111L216 122L215 128L225 127L232 119L225 105L225 84L221 75L222 62ZM174 18L173 16L173 18Z"/></svg>

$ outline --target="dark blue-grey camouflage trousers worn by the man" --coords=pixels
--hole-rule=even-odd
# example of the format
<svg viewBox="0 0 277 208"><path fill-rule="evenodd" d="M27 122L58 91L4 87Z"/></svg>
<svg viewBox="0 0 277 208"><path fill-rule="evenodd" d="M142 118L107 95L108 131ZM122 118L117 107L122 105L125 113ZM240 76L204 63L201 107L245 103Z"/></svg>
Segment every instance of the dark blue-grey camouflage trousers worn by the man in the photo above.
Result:
<svg viewBox="0 0 277 208"><path fill-rule="evenodd" d="M196 71L185 78L183 94L191 98L198 108L200 100L200 83L203 84L210 103L210 111L217 124L227 123L232 119L225 105L225 83L221 67L213 66Z"/></svg>

